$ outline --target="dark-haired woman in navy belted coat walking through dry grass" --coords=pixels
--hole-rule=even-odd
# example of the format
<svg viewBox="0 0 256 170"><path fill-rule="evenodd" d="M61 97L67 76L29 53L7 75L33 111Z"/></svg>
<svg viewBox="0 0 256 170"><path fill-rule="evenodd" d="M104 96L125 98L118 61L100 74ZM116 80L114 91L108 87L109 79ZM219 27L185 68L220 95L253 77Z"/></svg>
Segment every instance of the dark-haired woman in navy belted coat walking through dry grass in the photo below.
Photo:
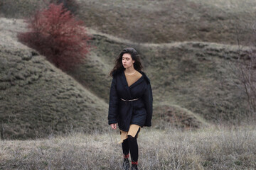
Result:
<svg viewBox="0 0 256 170"><path fill-rule="evenodd" d="M110 72L113 77L110 88L109 125L112 129L119 126L123 169L129 169L129 152L132 169L138 169L137 137L140 128L151 126L152 91L149 78L142 72L138 52L127 47L118 55L115 66Z"/></svg>

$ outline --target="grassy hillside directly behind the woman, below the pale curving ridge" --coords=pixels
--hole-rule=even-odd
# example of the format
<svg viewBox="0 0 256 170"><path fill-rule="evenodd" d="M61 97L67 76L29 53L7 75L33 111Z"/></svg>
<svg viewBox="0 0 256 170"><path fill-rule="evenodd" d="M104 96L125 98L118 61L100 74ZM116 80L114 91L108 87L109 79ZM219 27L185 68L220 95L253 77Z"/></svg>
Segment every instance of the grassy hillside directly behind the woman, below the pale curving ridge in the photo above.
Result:
<svg viewBox="0 0 256 170"><path fill-rule="evenodd" d="M154 111L159 106L180 106L210 122L241 120L247 111L245 94L235 77L235 60L247 55L236 45L209 42L174 42L166 44L136 43L90 30L94 39L94 60L88 60L70 72L97 96L108 101L114 58L123 47L135 47L142 57L144 71L151 79ZM239 54L240 53L240 54ZM196 116L195 115L195 116Z"/></svg>

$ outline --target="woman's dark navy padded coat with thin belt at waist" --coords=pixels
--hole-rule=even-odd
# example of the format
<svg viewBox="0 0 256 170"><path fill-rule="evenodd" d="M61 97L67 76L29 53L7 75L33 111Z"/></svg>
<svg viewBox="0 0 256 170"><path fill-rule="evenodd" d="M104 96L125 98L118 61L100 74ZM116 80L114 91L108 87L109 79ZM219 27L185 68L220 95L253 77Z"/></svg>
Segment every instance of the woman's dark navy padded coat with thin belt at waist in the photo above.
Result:
<svg viewBox="0 0 256 170"><path fill-rule="evenodd" d="M149 78L139 71L142 77L128 86L123 70L113 72L110 88L109 125L118 123L119 129L128 131L129 125L141 127L151 126L152 118L152 90ZM120 98L137 101L122 101Z"/></svg>

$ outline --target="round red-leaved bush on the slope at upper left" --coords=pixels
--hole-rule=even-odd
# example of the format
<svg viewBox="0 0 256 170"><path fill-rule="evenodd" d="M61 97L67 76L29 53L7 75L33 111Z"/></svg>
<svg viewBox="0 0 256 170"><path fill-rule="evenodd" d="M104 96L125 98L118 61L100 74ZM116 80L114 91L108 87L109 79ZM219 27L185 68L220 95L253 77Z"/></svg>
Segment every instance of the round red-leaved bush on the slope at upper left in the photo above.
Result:
<svg viewBox="0 0 256 170"><path fill-rule="evenodd" d="M82 21L75 19L63 4L50 4L47 9L36 12L27 20L27 33L19 33L18 39L41 55L67 71L81 63L90 45Z"/></svg>

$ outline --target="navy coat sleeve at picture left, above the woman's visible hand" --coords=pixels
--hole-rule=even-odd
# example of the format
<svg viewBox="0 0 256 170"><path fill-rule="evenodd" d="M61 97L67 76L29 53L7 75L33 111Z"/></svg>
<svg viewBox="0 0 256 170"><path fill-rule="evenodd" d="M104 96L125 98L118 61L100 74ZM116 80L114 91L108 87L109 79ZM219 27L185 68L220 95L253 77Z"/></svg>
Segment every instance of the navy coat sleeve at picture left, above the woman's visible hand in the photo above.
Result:
<svg viewBox="0 0 256 170"><path fill-rule="evenodd" d="M108 123L117 123L118 115L118 103L119 97L117 95L117 79L113 77L111 87L110 87L110 103L109 103L109 113L108 113Z"/></svg>

